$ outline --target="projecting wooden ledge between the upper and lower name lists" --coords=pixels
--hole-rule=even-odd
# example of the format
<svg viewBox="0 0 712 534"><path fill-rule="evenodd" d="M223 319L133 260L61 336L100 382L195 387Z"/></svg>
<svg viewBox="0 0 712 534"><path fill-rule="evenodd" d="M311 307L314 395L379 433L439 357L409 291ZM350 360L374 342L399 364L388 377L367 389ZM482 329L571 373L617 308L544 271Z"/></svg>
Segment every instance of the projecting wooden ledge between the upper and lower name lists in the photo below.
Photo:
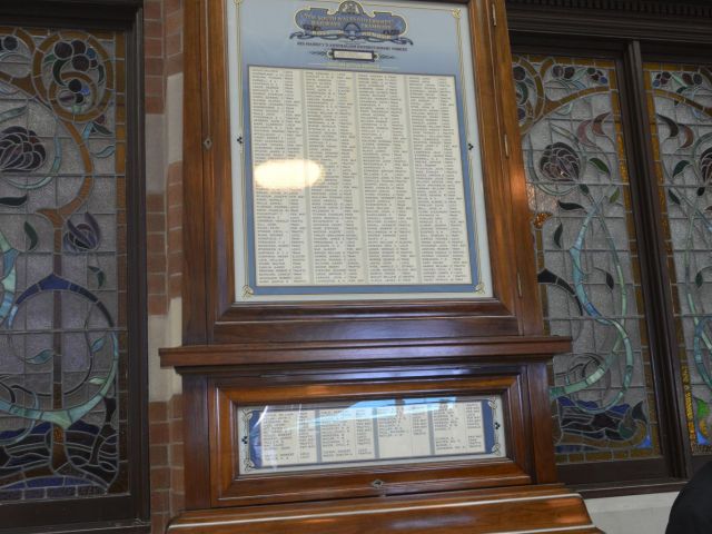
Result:
<svg viewBox="0 0 712 534"><path fill-rule="evenodd" d="M571 349L571 339L555 336L503 336L379 342L308 342L187 345L160 349L161 367L239 366L328 362L433 362L477 357L547 359Z"/></svg>

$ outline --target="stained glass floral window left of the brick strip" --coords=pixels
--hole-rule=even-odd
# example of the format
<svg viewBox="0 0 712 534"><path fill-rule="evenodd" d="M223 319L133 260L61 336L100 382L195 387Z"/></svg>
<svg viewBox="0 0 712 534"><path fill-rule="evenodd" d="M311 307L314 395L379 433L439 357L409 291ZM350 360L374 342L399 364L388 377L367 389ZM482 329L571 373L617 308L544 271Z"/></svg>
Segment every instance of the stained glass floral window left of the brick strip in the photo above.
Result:
<svg viewBox="0 0 712 534"><path fill-rule="evenodd" d="M0 504L127 491L123 56L0 27Z"/></svg>

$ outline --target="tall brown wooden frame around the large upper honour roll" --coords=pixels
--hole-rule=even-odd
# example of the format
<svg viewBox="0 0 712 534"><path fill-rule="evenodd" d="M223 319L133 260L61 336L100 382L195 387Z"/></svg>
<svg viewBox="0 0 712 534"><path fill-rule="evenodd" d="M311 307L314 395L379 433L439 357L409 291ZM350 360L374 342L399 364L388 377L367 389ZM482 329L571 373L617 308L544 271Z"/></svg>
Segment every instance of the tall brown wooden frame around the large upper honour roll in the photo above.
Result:
<svg viewBox="0 0 712 534"><path fill-rule="evenodd" d="M469 3L494 298L235 305L225 3L186 3L186 343L427 338L541 332L507 75L504 2ZM498 22L497 22L498 21ZM496 46L492 43L496 42ZM496 72L496 75L495 75ZM201 81L202 80L202 81ZM195 98L195 100L194 100ZM514 258L514 260L513 260Z"/></svg>

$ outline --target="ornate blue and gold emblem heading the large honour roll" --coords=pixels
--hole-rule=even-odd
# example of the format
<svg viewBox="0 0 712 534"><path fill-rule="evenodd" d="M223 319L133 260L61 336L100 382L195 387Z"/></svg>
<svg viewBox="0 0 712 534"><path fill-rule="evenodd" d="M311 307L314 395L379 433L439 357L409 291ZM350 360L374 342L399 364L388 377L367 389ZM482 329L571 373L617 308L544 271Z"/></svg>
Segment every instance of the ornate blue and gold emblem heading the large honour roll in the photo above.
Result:
<svg viewBox="0 0 712 534"><path fill-rule="evenodd" d="M393 42L413 44L402 37L407 29L403 17L386 11L374 11L370 16L355 0L342 2L335 12L326 8L303 9L295 16L296 24L303 31L296 31L290 39L327 39L367 42Z"/></svg>

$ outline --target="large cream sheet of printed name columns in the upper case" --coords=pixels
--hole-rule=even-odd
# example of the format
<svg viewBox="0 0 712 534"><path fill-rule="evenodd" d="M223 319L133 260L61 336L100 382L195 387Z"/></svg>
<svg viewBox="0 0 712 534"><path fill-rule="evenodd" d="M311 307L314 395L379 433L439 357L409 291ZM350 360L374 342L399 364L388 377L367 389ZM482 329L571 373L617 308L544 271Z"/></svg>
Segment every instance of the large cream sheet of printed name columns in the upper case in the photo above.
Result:
<svg viewBox="0 0 712 534"><path fill-rule="evenodd" d="M473 281L453 77L250 67L249 95L253 176L291 172L254 182L257 286Z"/></svg>

